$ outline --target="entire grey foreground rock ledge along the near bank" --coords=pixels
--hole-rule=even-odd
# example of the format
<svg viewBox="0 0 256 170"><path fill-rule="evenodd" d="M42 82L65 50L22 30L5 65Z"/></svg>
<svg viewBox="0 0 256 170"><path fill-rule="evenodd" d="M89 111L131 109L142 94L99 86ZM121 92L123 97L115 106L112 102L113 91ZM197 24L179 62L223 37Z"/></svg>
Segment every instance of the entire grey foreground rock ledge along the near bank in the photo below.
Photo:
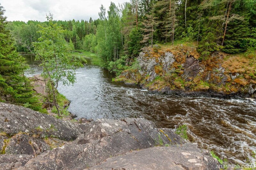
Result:
<svg viewBox="0 0 256 170"><path fill-rule="evenodd" d="M141 118L78 124L0 103L0 121L4 153L0 169L216 169L218 165L206 150ZM34 130L41 126L47 133L49 124L56 128L56 136L69 142L51 139L62 144L50 148Z"/></svg>

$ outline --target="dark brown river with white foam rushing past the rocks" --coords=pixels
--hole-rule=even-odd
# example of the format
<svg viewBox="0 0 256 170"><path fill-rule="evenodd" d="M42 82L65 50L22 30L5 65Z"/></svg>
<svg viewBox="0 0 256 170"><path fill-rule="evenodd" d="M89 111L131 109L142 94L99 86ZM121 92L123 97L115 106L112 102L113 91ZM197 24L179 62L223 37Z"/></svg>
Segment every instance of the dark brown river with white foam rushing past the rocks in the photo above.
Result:
<svg viewBox="0 0 256 170"><path fill-rule="evenodd" d="M27 60L27 76L40 74L34 57L28 55ZM74 86L60 85L58 90L71 101L69 111L78 118L143 117L172 129L187 124L189 139L200 147L234 163L255 163L255 101L152 94L114 83L113 76L88 64L76 71Z"/></svg>

